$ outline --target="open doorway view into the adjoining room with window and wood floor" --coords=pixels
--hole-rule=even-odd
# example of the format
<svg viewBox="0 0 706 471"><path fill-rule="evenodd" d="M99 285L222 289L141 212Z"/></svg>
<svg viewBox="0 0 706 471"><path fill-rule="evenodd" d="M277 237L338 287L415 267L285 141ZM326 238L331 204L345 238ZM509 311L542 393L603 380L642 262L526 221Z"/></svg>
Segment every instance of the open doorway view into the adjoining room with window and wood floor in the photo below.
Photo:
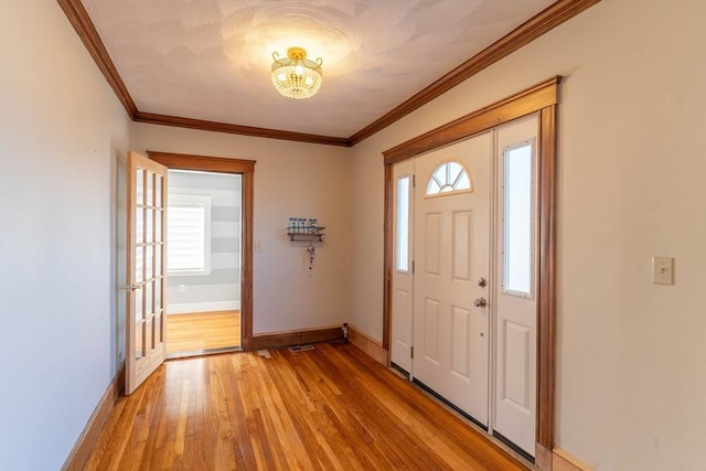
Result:
<svg viewBox="0 0 706 471"><path fill-rule="evenodd" d="M243 178L168 175L167 356L238 350Z"/></svg>

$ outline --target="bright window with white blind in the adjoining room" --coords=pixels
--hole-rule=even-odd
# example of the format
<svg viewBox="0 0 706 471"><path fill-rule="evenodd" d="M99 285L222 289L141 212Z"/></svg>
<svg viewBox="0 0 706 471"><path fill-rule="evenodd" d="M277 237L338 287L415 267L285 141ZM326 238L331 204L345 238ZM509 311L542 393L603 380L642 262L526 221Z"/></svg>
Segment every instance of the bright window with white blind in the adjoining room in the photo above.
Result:
<svg viewBox="0 0 706 471"><path fill-rule="evenodd" d="M170 194L167 210L167 270L211 272L211 196Z"/></svg>

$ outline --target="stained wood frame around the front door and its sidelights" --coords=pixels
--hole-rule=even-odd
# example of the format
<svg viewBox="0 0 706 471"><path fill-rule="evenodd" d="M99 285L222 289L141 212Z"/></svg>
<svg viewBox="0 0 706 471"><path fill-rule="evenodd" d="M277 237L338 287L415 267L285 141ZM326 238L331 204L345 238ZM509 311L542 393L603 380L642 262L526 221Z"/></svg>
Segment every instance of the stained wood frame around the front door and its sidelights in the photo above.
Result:
<svg viewBox="0 0 706 471"><path fill-rule="evenodd" d="M525 90L383 151L385 165L383 256L383 349L389 364L392 270L394 256L393 164L448 146L514 119L537 113L538 279L537 279L537 424L535 463L552 469L556 377L556 108L561 76Z"/></svg>

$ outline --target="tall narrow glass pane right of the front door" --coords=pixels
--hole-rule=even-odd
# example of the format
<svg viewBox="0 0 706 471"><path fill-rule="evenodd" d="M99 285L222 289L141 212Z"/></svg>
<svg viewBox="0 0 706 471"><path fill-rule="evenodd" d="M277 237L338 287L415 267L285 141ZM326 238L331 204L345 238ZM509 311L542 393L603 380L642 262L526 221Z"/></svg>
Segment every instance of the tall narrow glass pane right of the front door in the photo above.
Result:
<svg viewBox="0 0 706 471"><path fill-rule="evenodd" d="M503 290L531 297L533 283L533 144L523 142L504 152Z"/></svg>

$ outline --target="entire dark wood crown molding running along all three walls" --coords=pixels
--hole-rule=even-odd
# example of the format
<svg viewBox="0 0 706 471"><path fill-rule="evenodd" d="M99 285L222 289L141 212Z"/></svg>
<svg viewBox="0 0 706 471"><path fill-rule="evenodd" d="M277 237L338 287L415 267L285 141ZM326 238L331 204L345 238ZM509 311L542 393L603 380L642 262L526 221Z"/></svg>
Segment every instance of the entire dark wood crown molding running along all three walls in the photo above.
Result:
<svg viewBox="0 0 706 471"><path fill-rule="evenodd" d="M461 82L478 74L485 67L517 51L520 47L534 41L544 33L576 17L584 10L598 3L600 0L558 0L350 138L256 128L250 126L140 111L135 105L122 78L118 74L113 60L108 55L108 52L81 0L56 1L61 6L62 10L64 10L68 21L76 30L76 33L78 33L78 36L96 62L96 65L98 65L98 68L106 77L106 81L108 81L108 84L125 107L128 116L130 116L133 121L258 138L319 143L324 146L352 147L439 97L459 85Z"/></svg>

